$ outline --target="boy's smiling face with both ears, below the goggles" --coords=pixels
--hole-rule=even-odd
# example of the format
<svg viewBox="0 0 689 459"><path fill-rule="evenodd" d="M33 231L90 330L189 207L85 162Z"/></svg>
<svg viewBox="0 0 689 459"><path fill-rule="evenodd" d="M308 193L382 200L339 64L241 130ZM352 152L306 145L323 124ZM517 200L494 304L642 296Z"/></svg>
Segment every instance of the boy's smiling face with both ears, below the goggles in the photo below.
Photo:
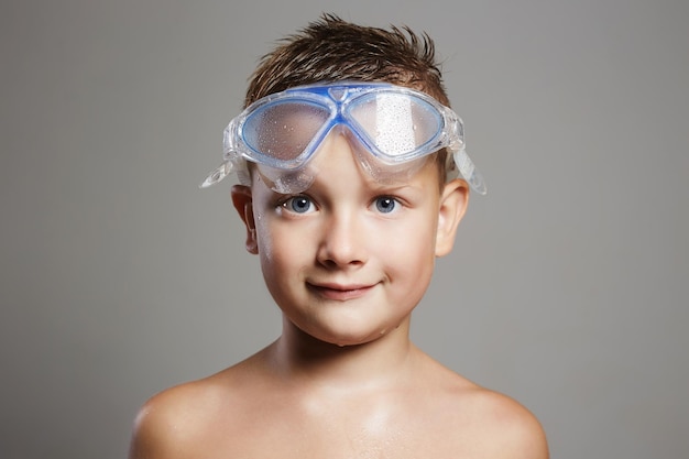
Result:
<svg viewBox="0 0 689 459"><path fill-rule="evenodd" d="M306 192L277 194L253 174L233 201L286 318L320 340L362 343L395 329L420 300L435 258L452 248L468 189L452 181L439 192L433 161L404 183L375 182L341 133L321 147Z"/></svg>

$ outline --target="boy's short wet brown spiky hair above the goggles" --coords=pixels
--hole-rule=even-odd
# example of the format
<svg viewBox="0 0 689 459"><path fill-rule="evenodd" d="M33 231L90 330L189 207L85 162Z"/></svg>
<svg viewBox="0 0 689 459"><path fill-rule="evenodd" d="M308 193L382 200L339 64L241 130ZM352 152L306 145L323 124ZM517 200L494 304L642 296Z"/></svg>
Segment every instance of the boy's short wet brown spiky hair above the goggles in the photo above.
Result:
<svg viewBox="0 0 689 459"><path fill-rule="evenodd" d="M324 14L259 62L249 80L244 107L296 86L358 80L384 81L420 90L449 107L435 44L408 26L363 26ZM445 177L447 153L435 155ZM442 184L445 179L441 179Z"/></svg>

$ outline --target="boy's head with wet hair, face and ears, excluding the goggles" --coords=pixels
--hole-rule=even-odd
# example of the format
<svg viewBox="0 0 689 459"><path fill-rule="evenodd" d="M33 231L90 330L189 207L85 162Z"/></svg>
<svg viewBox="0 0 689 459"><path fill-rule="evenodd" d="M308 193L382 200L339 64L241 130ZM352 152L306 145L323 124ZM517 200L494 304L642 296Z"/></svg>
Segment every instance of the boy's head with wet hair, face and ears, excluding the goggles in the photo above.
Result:
<svg viewBox="0 0 689 459"><path fill-rule="evenodd" d="M448 106L428 36L333 15L263 57L245 106L304 85L352 80L403 86ZM282 119L275 125L282 128ZM232 188L247 250L260 256L283 310L284 335L340 346L400 336L429 285L435 259L452 249L467 182L446 182L445 151L428 155L437 160L425 161L408 179L384 183L362 171L357 146L342 132L331 131L319 145L326 154L309 160L319 173L304 192L281 193L263 173Z"/></svg>

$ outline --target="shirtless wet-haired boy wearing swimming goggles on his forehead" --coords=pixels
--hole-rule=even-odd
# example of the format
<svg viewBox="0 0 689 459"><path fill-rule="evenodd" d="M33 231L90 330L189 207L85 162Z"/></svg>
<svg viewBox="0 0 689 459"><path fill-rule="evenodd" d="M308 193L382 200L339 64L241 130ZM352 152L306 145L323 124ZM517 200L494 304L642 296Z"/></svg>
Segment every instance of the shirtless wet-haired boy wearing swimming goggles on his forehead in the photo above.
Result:
<svg viewBox="0 0 689 459"><path fill-rule="evenodd" d="M434 59L426 35L333 15L263 58L205 185L237 172L283 331L151 398L131 459L548 456L529 412L409 341L469 187L484 193Z"/></svg>

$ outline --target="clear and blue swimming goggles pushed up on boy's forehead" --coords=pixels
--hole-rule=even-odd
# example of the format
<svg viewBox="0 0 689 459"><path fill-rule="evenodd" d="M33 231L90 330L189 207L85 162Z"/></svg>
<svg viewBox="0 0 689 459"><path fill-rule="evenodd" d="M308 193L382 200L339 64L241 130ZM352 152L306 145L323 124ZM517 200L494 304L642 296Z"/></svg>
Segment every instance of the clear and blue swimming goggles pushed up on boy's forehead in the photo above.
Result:
<svg viewBox="0 0 689 459"><path fill-rule="evenodd" d="M232 172L250 184L247 161L271 187L300 193L318 171L310 160L333 129L357 146L358 160L376 181L397 179L422 160L448 150L449 170L485 194L483 178L467 155L461 119L430 96L385 83L344 81L300 86L259 99L225 129L223 163L200 187Z"/></svg>

